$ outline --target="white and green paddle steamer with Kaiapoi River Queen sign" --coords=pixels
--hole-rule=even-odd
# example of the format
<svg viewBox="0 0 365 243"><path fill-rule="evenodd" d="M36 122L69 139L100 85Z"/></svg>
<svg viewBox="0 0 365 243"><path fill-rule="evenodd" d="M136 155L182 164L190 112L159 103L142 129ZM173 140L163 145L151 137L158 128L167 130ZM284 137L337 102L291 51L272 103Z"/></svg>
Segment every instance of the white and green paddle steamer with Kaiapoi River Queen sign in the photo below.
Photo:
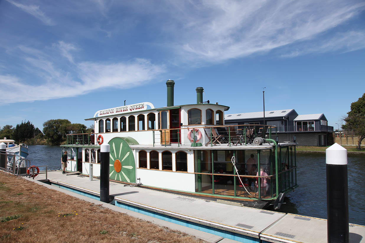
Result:
<svg viewBox="0 0 365 243"><path fill-rule="evenodd" d="M92 164L93 176L100 176L100 145L108 143L111 181L249 207L280 207L298 187L295 141L278 142L272 126L225 126L229 107L203 102L202 87L196 88L196 103L174 105L174 84L166 81L166 107L124 104L85 119L94 121L95 133L67 136L61 145L62 154L68 151L66 171L88 176Z"/></svg>

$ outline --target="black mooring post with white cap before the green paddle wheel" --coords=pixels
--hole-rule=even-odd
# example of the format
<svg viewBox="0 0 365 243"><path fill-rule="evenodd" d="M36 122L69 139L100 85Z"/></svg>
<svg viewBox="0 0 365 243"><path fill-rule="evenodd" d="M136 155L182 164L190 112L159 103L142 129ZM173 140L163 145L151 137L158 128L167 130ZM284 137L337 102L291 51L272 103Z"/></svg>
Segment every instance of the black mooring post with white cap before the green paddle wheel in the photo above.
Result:
<svg viewBox="0 0 365 243"><path fill-rule="evenodd" d="M109 152L110 145L100 145L100 201L109 202Z"/></svg>

